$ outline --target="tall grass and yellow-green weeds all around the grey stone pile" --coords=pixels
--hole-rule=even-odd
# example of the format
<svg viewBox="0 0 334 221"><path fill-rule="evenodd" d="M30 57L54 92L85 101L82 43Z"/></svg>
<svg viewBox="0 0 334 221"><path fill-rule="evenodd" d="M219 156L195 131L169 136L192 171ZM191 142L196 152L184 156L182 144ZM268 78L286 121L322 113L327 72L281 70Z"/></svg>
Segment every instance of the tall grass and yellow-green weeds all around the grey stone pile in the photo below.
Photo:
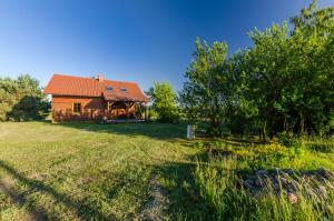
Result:
<svg viewBox="0 0 334 221"><path fill-rule="evenodd" d="M195 170L199 194L217 220L334 220L334 188L326 189L322 195L315 191L316 187L324 185L318 180L306 182L298 175L287 177L288 182L295 183L296 202L281 182L277 190L272 179L265 179L261 190L244 188L247 175L258 169L289 168L296 173L316 169L310 143L333 145L330 140L316 138L292 147L274 143L244 148L215 143L218 147L212 151L215 154L209 154L208 162L198 162Z"/></svg>

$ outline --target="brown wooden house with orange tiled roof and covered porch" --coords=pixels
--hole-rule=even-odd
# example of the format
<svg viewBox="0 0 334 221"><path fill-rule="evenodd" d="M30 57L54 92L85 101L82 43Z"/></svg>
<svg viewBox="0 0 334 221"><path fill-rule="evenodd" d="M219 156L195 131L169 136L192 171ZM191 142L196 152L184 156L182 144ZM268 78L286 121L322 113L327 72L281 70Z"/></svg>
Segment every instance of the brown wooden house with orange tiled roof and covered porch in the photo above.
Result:
<svg viewBox="0 0 334 221"><path fill-rule="evenodd" d="M43 93L51 94L55 121L140 119L147 97L135 82L53 74Z"/></svg>

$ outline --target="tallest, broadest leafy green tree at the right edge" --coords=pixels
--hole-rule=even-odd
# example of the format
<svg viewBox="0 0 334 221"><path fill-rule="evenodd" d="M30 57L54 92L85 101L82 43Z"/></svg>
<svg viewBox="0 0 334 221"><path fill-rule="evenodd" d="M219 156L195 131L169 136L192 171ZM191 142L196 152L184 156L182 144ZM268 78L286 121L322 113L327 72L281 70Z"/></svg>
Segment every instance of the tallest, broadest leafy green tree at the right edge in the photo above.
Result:
<svg viewBox="0 0 334 221"><path fill-rule="evenodd" d="M246 73L244 98L257 109L263 140L277 132L320 131L333 109L333 8L316 1L287 23L250 32L254 47L239 70ZM246 63L246 64L245 64Z"/></svg>

